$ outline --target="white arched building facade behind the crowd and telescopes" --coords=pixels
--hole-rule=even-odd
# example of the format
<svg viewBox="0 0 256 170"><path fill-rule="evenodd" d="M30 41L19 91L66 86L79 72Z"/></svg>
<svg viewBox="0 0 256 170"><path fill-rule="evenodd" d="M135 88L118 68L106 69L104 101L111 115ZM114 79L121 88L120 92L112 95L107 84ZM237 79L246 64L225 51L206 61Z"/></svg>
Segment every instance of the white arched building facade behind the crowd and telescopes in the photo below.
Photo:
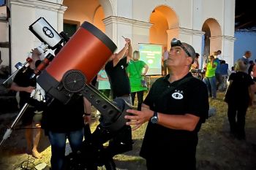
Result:
<svg viewBox="0 0 256 170"><path fill-rule="evenodd" d="M86 3L89 2L89 4L85 4L85 1ZM29 25L34 20L44 16L53 25L53 28L56 28L58 32L61 31L61 23L63 22L61 16L63 17L63 12L66 9L61 5L62 3L63 1L61 0L10 0L12 7L12 65L20 61L20 59L26 58L26 53L39 43L38 39L28 30ZM83 9L90 5L90 0L80 0L80 3L80 10L84 11ZM94 1L91 1L91 3L94 3ZM203 34L201 32L203 23L208 18L214 18L221 27L222 35L220 36L228 36L227 39L221 38L222 48L225 47L226 50L225 55L227 53L233 54L232 37L235 0L99 0L98 3L102 4L103 7L108 7L105 13L106 18L113 15L116 17L115 20L118 20L117 22L115 21L116 23L111 23L105 27L106 34L113 39L119 49L124 44L121 35L132 37L133 45L137 45L138 42L142 41L146 43L149 35L150 23L148 22L151 12L154 8L165 5L176 12L179 23L178 30L181 30L181 40L188 42L199 52L202 45L200 36ZM103 10L105 9L103 8ZM78 18L82 15L80 13ZM93 21L93 16L89 14L87 17ZM71 15L67 19L72 20Z"/></svg>

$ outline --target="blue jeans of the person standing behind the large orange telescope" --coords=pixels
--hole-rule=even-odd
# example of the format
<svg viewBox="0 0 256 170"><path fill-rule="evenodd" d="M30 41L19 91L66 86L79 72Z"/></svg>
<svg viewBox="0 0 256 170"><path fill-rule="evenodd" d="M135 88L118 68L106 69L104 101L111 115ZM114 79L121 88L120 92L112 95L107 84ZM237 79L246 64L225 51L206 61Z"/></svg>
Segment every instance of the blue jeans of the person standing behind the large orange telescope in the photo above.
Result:
<svg viewBox="0 0 256 170"><path fill-rule="evenodd" d="M67 133L55 133L53 131L49 131L49 140L51 145L50 164L53 170L64 169L67 139L69 139L72 152L77 152L83 142L83 128L78 131L71 131Z"/></svg>

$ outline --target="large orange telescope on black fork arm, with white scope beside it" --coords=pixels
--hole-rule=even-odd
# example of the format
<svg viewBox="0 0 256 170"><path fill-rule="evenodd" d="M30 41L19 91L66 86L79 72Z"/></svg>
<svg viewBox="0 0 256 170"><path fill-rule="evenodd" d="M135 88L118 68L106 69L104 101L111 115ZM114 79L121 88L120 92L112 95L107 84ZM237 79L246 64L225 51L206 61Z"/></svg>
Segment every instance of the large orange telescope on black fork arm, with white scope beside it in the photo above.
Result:
<svg viewBox="0 0 256 170"><path fill-rule="evenodd" d="M39 18L29 26L29 30L50 49L60 47L65 40L61 39L45 18ZM63 104L67 104L75 93L82 94L102 113L102 127L118 131L126 123L126 112L119 109L123 106L116 104L124 103L113 103L90 85L115 50L116 45L108 36L91 23L84 22L50 64L40 69L42 73L39 73L37 83L45 90L48 98L57 99ZM127 105L127 108L130 106Z"/></svg>

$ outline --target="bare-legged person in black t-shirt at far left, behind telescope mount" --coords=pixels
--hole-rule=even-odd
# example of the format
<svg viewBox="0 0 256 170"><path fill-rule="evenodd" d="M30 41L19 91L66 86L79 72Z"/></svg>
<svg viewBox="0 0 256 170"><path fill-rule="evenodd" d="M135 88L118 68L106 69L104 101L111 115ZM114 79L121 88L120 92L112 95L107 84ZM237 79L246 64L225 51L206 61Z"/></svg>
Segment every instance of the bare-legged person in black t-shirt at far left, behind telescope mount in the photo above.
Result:
<svg viewBox="0 0 256 170"><path fill-rule="evenodd" d="M39 61L39 51L35 48L32 50L32 61L29 63L28 67L20 70L16 75L10 87L10 90L15 90L19 92L20 102L19 106L22 108L24 104L28 103L32 91L36 87L36 77L31 78L31 75L34 74L34 69L37 66L37 61ZM40 61L39 61L40 63ZM38 152L37 146L39 144L41 129L40 119L34 117L37 109L35 107L29 106L26 111L23 113L21 120L23 125L26 126L25 137L27 143L27 151L31 153L34 158L42 158L42 154ZM37 112L37 117L40 118L39 112ZM37 128L32 129L32 126Z"/></svg>

